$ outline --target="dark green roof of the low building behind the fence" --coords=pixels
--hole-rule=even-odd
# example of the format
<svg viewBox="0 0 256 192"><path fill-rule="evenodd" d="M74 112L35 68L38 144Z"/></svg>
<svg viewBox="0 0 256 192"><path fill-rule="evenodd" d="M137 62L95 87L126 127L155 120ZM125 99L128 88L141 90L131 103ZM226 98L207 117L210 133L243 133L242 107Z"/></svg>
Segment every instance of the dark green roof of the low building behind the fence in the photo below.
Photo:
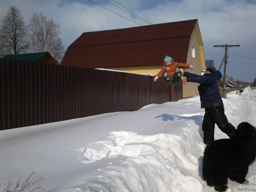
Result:
<svg viewBox="0 0 256 192"><path fill-rule="evenodd" d="M13 60L21 60L21 61L39 62L39 60L42 57L44 57L46 54L48 54L48 52L6 55L6 56L4 56L4 58L13 59Z"/></svg>

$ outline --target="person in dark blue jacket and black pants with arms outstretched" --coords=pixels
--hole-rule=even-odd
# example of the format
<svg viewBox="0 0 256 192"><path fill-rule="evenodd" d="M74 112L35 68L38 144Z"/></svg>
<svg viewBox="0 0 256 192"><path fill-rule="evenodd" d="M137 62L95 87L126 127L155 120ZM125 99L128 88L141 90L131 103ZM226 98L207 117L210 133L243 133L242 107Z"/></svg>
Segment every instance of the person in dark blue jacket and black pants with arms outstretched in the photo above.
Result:
<svg viewBox="0 0 256 192"><path fill-rule="evenodd" d="M206 145L214 141L215 124L230 138L235 136L236 128L228 122L224 114L224 104L220 96L217 82L222 74L215 67L206 68L204 75L196 75L184 72L184 84L186 82L199 83L198 91L200 95L201 108L204 108L204 120L202 130L204 132L204 143Z"/></svg>

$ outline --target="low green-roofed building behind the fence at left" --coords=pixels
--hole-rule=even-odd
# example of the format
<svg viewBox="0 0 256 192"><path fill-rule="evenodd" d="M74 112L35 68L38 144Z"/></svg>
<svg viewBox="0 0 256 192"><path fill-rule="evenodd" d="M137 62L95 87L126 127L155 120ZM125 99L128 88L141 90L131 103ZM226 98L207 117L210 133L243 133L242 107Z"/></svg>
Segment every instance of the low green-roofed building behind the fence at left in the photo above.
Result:
<svg viewBox="0 0 256 192"><path fill-rule="evenodd" d="M4 58L12 60L40 62L47 64L58 64L58 62L52 57L52 55L49 52L6 55L4 56Z"/></svg>

